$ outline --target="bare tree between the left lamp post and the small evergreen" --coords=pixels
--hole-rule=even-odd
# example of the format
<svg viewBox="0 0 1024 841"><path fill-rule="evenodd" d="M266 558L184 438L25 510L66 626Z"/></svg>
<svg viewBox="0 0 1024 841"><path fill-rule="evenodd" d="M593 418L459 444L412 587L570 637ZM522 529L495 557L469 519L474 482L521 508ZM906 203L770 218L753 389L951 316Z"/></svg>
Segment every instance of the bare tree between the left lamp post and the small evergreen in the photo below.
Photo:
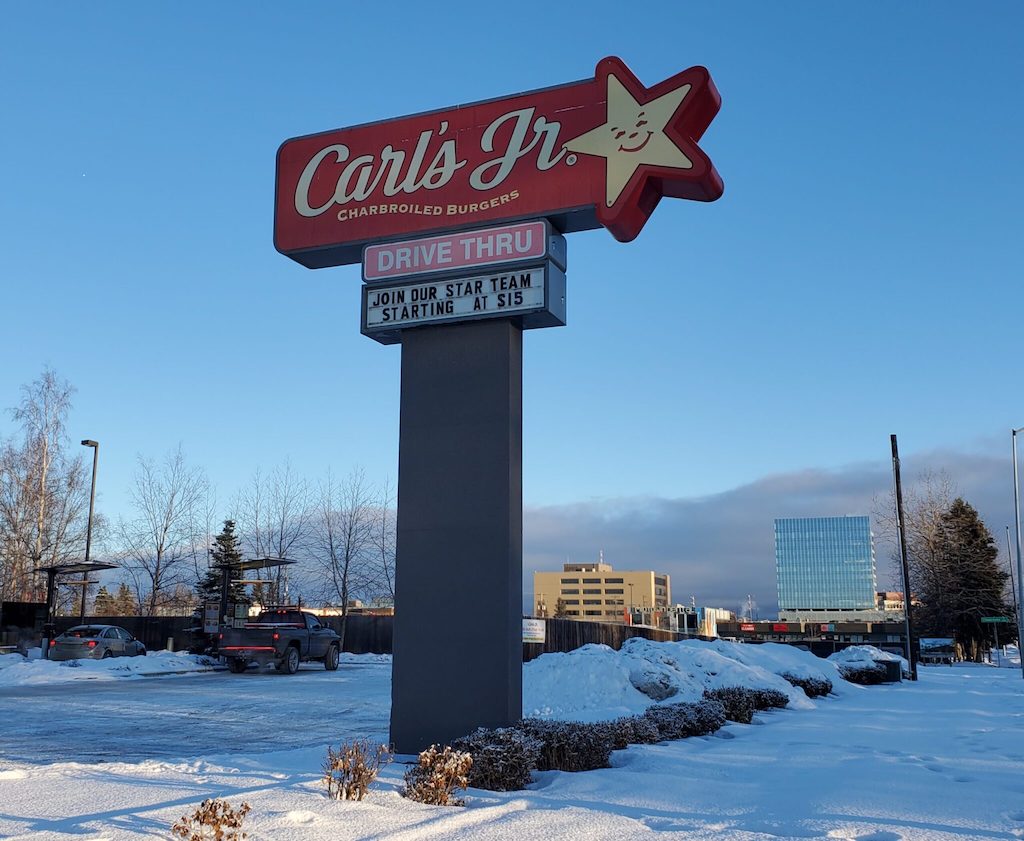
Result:
<svg viewBox="0 0 1024 841"><path fill-rule="evenodd" d="M142 616L170 606L173 593L188 582L195 565L197 519L207 493L203 472L185 463L181 447L156 464L139 457L131 490L135 516L118 527L121 565Z"/></svg>

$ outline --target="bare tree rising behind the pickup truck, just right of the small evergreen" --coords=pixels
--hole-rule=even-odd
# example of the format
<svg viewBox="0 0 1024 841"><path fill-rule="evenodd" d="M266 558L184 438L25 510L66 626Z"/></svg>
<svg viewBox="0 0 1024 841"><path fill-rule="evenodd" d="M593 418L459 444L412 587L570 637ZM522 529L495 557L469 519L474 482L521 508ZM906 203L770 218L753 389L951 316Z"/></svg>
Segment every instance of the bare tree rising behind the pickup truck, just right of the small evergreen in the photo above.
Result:
<svg viewBox="0 0 1024 841"><path fill-rule="evenodd" d="M309 537L309 490L289 463L268 475L257 470L236 505L240 532L256 557L298 560ZM270 603L288 600L288 567L279 566L263 588Z"/></svg>

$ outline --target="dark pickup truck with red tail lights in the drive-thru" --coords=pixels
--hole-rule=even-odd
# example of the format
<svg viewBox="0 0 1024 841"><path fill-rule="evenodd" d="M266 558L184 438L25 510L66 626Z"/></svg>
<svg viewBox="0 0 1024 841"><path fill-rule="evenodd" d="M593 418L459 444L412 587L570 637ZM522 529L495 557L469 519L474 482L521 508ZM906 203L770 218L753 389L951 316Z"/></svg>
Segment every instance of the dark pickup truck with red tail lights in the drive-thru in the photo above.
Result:
<svg viewBox="0 0 1024 841"><path fill-rule="evenodd" d="M299 663L310 660L333 672L341 657L340 637L312 614L292 607L263 611L243 628L221 628L217 637L217 650L236 674L255 662L260 666L273 663L291 675L299 670Z"/></svg>

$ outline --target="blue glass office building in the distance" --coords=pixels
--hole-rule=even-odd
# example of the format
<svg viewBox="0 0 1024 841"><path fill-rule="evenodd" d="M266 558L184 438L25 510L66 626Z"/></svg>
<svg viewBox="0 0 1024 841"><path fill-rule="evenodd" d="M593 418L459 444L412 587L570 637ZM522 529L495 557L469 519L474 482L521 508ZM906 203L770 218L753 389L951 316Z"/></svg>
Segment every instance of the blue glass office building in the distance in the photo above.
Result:
<svg viewBox="0 0 1024 841"><path fill-rule="evenodd" d="M775 520L779 616L837 618L874 609L874 547L866 516ZM821 617L824 618L824 617Z"/></svg>

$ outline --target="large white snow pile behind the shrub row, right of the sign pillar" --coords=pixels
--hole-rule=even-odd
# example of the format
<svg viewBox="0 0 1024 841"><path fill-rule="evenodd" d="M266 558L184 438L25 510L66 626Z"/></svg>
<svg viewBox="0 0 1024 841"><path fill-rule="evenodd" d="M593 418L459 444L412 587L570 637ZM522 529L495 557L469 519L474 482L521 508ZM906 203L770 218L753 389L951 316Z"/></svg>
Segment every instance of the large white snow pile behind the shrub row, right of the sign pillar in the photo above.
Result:
<svg viewBox="0 0 1024 841"><path fill-rule="evenodd" d="M652 704L698 701L705 689L727 686L776 689L791 708L813 708L783 674L827 680L835 688L846 685L835 664L790 645L635 637L617 651L590 644L527 663L523 715L601 721L642 713Z"/></svg>

